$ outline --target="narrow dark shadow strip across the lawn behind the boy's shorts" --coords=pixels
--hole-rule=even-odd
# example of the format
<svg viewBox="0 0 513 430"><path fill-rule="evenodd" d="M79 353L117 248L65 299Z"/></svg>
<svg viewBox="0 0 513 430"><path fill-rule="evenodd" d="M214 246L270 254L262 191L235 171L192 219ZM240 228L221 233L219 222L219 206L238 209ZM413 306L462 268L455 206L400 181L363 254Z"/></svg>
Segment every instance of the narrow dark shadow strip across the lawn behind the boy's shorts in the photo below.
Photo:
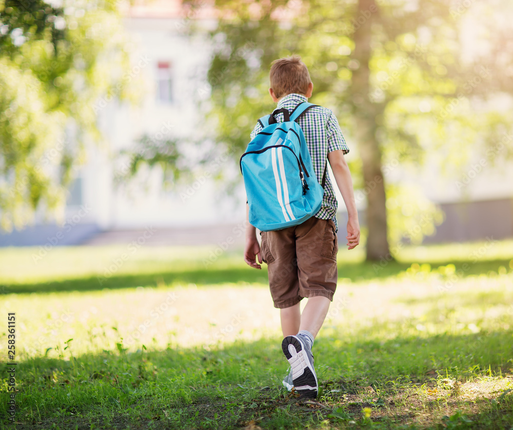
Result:
<svg viewBox="0 0 513 430"><path fill-rule="evenodd" d="M376 278L387 278L395 276L405 271L411 266L411 262L390 261L386 264L368 263L366 261L359 263L344 263L339 261L339 277L349 278L353 282L365 281ZM429 261L423 261L429 263ZM463 276L488 273L497 271L499 267L509 265L509 259L497 259L486 261L446 261L443 264L432 264L432 269L440 266L453 264L456 270L462 269ZM467 265L467 266L464 266ZM198 266L189 270L176 269L151 272L151 273L114 273L111 276L86 276L74 279L63 279L62 281L26 283L26 284L0 284L0 291L4 294L9 293L50 293L60 291L95 291L104 288L119 289L138 286L160 285L160 284L198 284L198 285L219 285L219 284L242 284L242 283L261 283L267 284L267 269L265 265L263 270L255 270L250 267L233 265L226 267L226 264L219 267L215 264L208 268ZM2 294L0 293L0 294Z"/></svg>

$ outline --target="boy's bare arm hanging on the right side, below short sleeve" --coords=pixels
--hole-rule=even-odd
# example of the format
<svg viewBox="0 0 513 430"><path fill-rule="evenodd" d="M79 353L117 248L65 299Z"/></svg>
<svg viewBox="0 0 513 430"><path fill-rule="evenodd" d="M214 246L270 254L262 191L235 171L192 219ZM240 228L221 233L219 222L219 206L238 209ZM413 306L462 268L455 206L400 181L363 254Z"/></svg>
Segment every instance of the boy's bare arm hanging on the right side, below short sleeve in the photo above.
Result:
<svg viewBox="0 0 513 430"><path fill-rule="evenodd" d="M337 150L328 153L331 171L337 182L342 198L347 208L347 249L353 249L360 244L360 223L352 185L351 172L344 158L344 151Z"/></svg>

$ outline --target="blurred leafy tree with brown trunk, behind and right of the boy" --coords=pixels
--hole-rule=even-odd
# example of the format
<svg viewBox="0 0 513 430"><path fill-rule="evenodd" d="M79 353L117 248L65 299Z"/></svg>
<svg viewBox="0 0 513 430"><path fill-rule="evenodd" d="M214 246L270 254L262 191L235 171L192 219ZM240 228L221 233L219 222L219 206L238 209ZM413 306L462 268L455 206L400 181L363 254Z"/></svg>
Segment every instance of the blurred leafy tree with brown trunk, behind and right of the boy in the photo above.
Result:
<svg viewBox="0 0 513 430"><path fill-rule="evenodd" d="M501 13L513 16L504 0L481 5L488 18L479 25L489 33L494 29L491 12L499 3L504 6ZM356 185L367 198L368 260L391 259L389 241L401 237L396 226L392 237L388 232L384 166L390 174L394 166L418 165L439 152L443 159L438 162L447 165L449 161L447 166L454 169L468 161L466 154L472 153L468 147L475 147L480 136L488 137L491 144L497 142L497 130L503 132L511 123L510 111L494 106L479 113L470 107L460 114L448 109L455 97L461 107L469 106L469 101L475 106L477 100L490 96L489 88L497 93L510 90L511 85L504 64L493 72L487 67L490 51L463 58L461 22L468 12L466 2L261 0L239 4L216 0L215 6L220 18L211 34L210 88L200 88L199 95L207 94L203 99L218 151L222 147L240 157L255 119L274 108L267 95L270 63L300 54L314 83L310 101L332 108L358 144L360 160L351 169L363 173L363 181L357 177ZM483 37L489 36L495 46L490 34ZM505 34L496 35L497 39ZM501 61L511 67L510 55L501 55ZM488 81L490 74L497 78L493 84ZM394 195L400 186L395 184ZM415 193L410 191L413 197ZM419 203L416 210L402 211L402 221L397 204L393 206L396 212L391 219L404 222L409 217L412 221L405 224L410 226L412 222L420 225L422 211L429 211L425 218L430 219L429 226L417 229L416 235L403 230L408 239L418 240L419 234L432 231L433 223L440 221L432 205Z"/></svg>

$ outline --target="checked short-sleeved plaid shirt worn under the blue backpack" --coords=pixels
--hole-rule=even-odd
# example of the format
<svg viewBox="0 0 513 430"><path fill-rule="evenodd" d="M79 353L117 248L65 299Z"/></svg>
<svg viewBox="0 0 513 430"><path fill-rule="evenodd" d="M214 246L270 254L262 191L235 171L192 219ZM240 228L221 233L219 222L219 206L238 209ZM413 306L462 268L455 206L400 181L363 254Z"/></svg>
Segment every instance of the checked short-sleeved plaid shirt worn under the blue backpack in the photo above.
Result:
<svg viewBox="0 0 513 430"><path fill-rule="evenodd" d="M289 94L280 100L277 109L284 107L291 111L299 103L306 101L308 101L308 99L301 94ZM278 114L275 118L278 122L283 122L282 113ZM308 109L305 115L299 119L298 124L301 126L303 134L305 135L310 157L312 158L313 169L315 170L315 176L317 176L319 183L322 183L328 153L337 151L337 149L344 151L344 154L349 152L349 148L342 136L339 122L330 109L319 106ZM251 140L253 140L261 130L262 126L257 122L257 125L255 125L251 133ZM315 214L315 217L321 219L331 218L335 223L335 227L338 229L336 217L337 205L337 197L335 197L329 174L326 172L323 202L321 209Z"/></svg>

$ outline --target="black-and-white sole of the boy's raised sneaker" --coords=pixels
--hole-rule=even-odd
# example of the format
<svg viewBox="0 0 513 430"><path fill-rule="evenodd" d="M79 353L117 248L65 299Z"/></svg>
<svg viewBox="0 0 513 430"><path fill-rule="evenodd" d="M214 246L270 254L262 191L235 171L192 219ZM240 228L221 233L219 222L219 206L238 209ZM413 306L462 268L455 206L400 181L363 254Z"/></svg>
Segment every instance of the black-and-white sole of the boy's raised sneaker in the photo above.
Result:
<svg viewBox="0 0 513 430"><path fill-rule="evenodd" d="M292 367L294 389L301 397L311 399L317 397L319 388L317 375L301 341L296 336L287 336L282 342L282 350Z"/></svg>

